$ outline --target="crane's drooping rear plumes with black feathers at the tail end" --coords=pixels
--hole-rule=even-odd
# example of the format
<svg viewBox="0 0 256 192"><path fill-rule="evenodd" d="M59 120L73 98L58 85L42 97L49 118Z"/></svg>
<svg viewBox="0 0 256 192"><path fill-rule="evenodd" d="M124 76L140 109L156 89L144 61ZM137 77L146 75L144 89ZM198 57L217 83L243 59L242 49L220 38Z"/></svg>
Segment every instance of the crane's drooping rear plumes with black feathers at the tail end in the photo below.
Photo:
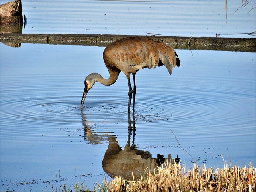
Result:
<svg viewBox="0 0 256 192"><path fill-rule="evenodd" d="M159 65L162 64L167 68L169 74L172 74L172 69L175 67L178 56L174 49L162 42L155 41L158 54L159 54Z"/></svg>

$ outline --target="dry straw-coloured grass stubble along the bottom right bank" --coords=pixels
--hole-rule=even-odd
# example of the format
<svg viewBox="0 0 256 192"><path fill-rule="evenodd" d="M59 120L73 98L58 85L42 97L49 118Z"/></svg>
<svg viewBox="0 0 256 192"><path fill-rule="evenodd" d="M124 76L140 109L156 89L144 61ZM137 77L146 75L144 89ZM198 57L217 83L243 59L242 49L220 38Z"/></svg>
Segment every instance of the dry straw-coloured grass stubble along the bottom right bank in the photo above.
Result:
<svg viewBox="0 0 256 192"><path fill-rule="evenodd" d="M126 181L115 177L112 181L105 181L111 192L248 192L248 174L252 175L252 192L256 191L256 169L248 167L230 166L224 168L206 168L194 164L186 170L185 165L164 164L153 172L146 172L145 178L138 181Z"/></svg>

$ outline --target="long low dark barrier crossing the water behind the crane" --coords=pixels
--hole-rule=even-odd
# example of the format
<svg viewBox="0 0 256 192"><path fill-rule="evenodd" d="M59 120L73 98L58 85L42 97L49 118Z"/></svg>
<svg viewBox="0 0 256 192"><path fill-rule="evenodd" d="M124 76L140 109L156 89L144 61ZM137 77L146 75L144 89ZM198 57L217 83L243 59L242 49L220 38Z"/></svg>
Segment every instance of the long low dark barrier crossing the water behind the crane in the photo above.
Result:
<svg viewBox="0 0 256 192"><path fill-rule="evenodd" d="M111 42L130 35L107 34L0 34L2 43L42 43L106 46ZM222 38L222 37L178 37L178 36L144 36L170 44L176 49L226 50L256 52L256 38Z"/></svg>

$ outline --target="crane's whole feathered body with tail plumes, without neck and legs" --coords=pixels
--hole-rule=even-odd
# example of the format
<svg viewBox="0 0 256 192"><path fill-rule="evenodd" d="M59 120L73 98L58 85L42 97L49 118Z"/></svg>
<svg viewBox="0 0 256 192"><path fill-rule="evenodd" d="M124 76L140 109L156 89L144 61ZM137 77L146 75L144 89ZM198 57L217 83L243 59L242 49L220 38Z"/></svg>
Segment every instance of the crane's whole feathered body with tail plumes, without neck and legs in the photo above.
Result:
<svg viewBox="0 0 256 192"><path fill-rule="evenodd" d="M110 44L104 50L103 58L106 66L118 68L126 76L142 68L150 69L161 65L172 74L175 64L180 66L173 48L143 37L123 38Z"/></svg>

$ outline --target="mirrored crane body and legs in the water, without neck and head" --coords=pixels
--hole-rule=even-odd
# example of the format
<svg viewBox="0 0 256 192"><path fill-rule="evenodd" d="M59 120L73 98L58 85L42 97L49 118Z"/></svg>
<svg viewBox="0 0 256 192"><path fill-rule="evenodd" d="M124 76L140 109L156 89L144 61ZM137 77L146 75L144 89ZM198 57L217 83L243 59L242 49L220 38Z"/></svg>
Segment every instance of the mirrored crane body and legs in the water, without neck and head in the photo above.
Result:
<svg viewBox="0 0 256 192"><path fill-rule="evenodd" d="M124 149L122 150L119 146L116 137L109 137L108 149L104 154L102 167L110 176L121 176L126 180L138 179L146 170L154 170L164 162L174 163L171 154L168 155L168 158L164 158L164 155L160 154L157 155L157 158L153 158L150 152L136 148L135 131L134 114L131 122L130 113L128 113L128 140Z"/></svg>

